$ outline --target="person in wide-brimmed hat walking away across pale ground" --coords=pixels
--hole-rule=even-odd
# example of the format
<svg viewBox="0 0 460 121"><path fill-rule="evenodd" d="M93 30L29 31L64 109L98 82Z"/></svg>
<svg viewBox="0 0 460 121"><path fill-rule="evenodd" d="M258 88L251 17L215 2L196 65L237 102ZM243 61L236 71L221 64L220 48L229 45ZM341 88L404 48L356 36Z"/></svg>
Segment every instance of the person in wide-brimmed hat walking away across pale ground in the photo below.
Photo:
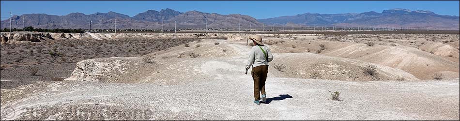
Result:
<svg viewBox="0 0 460 121"><path fill-rule="evenodd" d="M254 80L254 103L260 105L267 100L265 81L267 80L268 62L273 60L273 55L270 48L262 43L262 37L260 35L249 36L249 39L252 40L254 46L249 52L249 60L246 64L245 74L247 75L247 71L252 67L251 75Z"/></svg>

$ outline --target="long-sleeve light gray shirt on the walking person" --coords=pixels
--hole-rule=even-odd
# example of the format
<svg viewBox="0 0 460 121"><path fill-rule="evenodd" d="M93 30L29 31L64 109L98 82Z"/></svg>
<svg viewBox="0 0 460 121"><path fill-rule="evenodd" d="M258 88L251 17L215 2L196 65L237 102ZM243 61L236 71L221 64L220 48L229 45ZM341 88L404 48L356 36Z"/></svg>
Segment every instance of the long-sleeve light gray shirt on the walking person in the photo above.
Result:
<svg viewBox="0 0 460 121"><path fill-rule="evenodd" d="M255 45L249 52L249 60L246 64L246 70L251 68L251 66L254 68L261 65L268 65L268 62L273 60L273 55L272 51L270 51L270 48L267 45L263 45L261 47L265 53L268 54L268 61L265 59L265 55L263 55L261 48L259 48L258 45Z"/></svg>

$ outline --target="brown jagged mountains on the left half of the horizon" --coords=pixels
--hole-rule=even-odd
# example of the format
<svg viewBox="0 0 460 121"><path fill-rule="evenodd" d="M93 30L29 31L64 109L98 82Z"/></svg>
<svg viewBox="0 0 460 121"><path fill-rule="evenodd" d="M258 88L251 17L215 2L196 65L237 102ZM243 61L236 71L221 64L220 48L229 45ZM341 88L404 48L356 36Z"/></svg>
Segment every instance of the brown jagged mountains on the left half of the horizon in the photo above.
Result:
<svg viewBox="0 0 460 121"><path fill-rule="evenodd" d="M82 13L71 13L68 15L46 15L46 14L25 14L12 16L13 28L22 28L23 20L25 26L42 29L100 29L104 23L104 29L171 29L174 22L177 27L205 28L206 21L210 28L235 28L239 22L241 26L261 27L262 23L248 15L219 15L209 14L199 11L188 11L181 13L172 9L162 9L161 11L148 10L133 17L116 12L94 13L85 15ZM163 26L162 26L163 24ZM1 21L0 28L9 28L9 19Z"/></svg>

